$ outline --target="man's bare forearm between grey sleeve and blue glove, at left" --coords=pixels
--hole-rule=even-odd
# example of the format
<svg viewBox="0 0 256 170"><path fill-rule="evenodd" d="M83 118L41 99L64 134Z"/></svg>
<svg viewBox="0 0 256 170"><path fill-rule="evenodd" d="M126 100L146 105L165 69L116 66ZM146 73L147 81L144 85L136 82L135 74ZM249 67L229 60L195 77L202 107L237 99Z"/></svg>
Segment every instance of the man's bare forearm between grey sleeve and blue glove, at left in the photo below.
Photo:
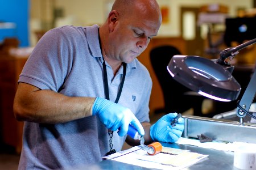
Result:
<svg viewBox="0 0 256 170"><path fill-rule="evenodd" d="M14 114L19 121L57 124L91 116L94 100L90 97L68 97L19 83Z"/></svg>

